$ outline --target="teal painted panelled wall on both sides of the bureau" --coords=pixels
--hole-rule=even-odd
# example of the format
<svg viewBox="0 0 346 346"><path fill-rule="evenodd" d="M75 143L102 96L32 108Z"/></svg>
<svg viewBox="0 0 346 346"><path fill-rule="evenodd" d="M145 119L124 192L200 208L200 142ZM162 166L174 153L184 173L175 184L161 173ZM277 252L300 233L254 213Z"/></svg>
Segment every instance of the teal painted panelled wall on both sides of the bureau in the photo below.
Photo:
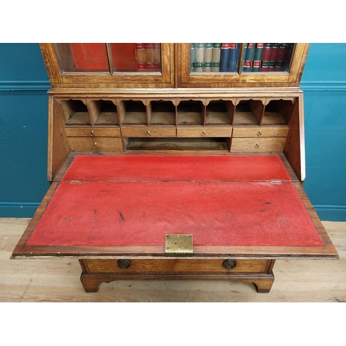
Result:
<svg viewBox="0 0 346 346"><path fill-rule="evenodd" d="M300 86L304 190L320 219L346 221L346 44L311 44ZM0 217L32 217L49 187L49 88L38 44L0 44Z"/></svg>

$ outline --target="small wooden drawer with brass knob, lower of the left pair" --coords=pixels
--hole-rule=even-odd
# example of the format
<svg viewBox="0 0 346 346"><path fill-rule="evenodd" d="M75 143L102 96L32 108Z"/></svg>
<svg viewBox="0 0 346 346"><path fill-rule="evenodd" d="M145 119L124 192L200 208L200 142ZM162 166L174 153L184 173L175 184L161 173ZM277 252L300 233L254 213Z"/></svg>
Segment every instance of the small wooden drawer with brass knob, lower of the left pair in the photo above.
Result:
<svg viewBox="0 0 346 346"><path fill-rule="evenodd" d="M122 152L121 138L115 137L67 137L73 152Z"/></svg>

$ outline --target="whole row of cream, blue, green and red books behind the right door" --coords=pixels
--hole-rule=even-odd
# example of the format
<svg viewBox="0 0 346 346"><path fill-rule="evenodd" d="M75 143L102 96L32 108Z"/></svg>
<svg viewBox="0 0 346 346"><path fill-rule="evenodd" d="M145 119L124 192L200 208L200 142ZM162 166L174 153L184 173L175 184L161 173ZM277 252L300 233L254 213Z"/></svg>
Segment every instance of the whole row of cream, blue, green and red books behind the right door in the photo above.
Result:
<svg viewBox="0 0 346 346"><path fill-rule="evenodd" d="M238 43L192 43L191 72L237 72ZM244 72L286 71L293 44L246 43L242 60Z"/></svg>

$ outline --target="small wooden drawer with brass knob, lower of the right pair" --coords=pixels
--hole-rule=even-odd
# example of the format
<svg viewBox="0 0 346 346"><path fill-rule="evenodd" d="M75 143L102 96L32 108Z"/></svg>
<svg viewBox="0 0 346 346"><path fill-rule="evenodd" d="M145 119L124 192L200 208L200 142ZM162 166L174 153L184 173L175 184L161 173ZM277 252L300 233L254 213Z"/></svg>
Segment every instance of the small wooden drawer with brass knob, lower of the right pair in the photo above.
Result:
<svg viewBox="0 0 346 346"><path fill-rule="evenodd" d="M282 152L286 138L232 138L230 152Z"/></svg>

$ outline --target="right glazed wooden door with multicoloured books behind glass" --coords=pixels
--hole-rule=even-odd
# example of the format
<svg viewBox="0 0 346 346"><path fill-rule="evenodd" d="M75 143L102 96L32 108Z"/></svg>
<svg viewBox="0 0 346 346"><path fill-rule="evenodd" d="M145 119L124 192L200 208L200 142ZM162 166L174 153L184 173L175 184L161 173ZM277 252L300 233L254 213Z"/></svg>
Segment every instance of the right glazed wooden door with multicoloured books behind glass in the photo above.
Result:
<svg viewBox="0 0 346 346"><path fill-rule="evenodd" d="M298 86L309 44L180 44L185 87Z"/></svg>

